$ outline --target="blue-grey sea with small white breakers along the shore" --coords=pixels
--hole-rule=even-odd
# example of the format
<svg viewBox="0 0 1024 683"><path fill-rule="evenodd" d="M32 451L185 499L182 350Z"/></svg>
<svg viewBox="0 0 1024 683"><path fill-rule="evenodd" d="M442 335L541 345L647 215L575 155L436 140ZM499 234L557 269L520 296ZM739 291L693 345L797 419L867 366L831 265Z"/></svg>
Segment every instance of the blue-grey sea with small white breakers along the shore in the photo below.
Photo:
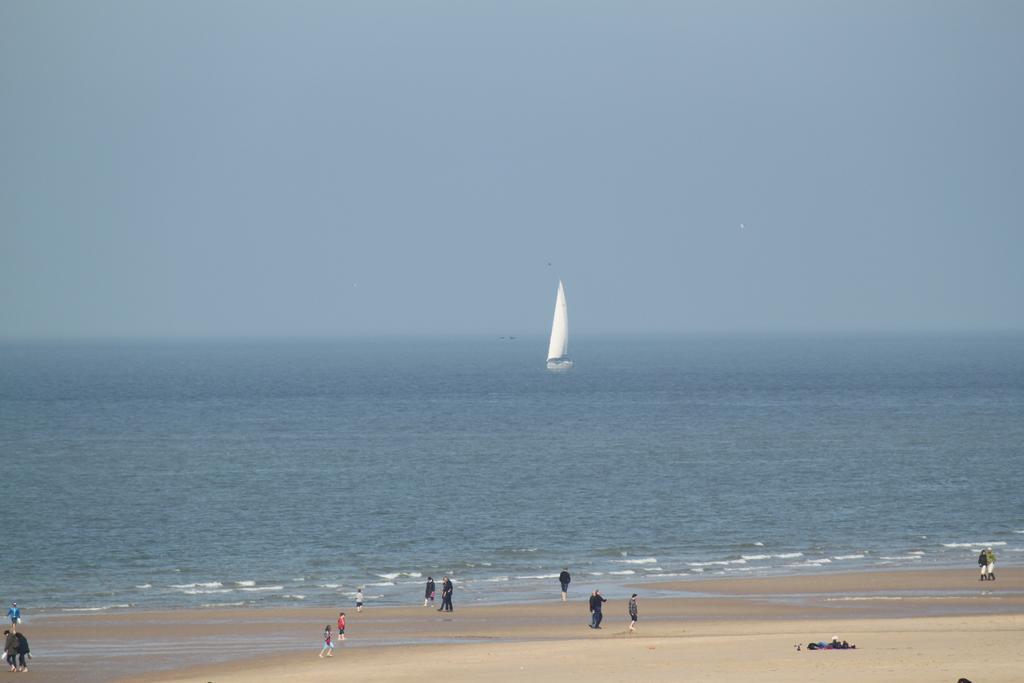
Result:
<svg viewBox="0 0 1024 683"><path fill-rule="evenodd" d="M1024 336L0 345L0 599L422 599L1024 552Z"/></svg>

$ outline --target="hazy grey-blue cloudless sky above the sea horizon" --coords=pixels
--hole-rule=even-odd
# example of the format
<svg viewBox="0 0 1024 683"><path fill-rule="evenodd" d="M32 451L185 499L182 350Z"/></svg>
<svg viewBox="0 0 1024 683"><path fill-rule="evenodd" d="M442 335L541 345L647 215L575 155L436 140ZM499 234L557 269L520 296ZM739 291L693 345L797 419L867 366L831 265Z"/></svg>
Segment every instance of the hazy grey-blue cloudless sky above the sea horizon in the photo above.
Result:
<svg viewBox="0 0 1024 683"><path fill-rule="evenodd" d="M4 0L0 335L1024 329L1022 122L1017 1Z"/></svg>

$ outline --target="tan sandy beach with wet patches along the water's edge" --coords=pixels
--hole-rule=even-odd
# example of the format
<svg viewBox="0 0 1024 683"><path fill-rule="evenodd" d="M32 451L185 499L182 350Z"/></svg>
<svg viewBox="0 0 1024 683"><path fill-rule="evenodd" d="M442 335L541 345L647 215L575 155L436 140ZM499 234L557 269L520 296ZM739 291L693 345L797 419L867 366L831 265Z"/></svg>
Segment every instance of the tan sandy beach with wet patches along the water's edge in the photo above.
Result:
<svg viewBox="0 0 1024 683"><path fill-rule="evenodd" d="M460 607L348 605L45 615L25 626L47 681L1019 681L1024 570L717 579L638 586L588 628L591 587L570 600ZM678 597L673 597L678 592ZM658 595L665 597L645 597ZM348 639L321 659L338 611ZM856 650L808 651L834 635ZM0 680L15 680L4 674ZM16 679L20 680L20 678Z"/></svg>

